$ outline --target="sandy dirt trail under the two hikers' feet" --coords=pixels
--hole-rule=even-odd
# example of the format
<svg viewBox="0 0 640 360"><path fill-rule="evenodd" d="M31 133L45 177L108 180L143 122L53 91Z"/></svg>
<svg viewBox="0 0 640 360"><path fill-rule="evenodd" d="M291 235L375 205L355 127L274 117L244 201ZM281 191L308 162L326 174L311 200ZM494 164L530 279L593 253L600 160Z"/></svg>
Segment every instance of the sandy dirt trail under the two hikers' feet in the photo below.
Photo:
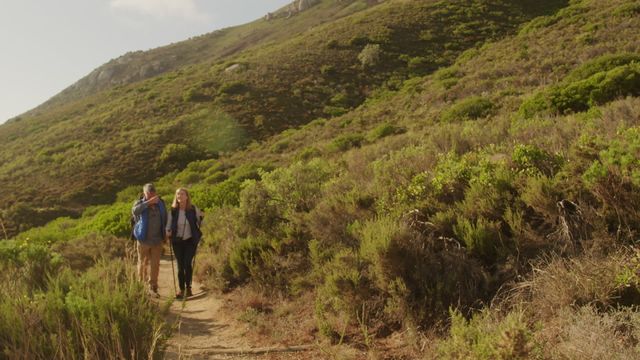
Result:
<svg viewBox="0 0 640 360"><path fill-rule="evenodd" d="M175 262L174 262L175 265ZM177 274L176 274L177 276ZM160 261L160 301L175 297L171 258ZM203 292L194 281L194 296L171 304L168 321L175 324L165 359L306 359L299 348L255 348L245 339L247 325L222 310L223 300Z"/></svg>

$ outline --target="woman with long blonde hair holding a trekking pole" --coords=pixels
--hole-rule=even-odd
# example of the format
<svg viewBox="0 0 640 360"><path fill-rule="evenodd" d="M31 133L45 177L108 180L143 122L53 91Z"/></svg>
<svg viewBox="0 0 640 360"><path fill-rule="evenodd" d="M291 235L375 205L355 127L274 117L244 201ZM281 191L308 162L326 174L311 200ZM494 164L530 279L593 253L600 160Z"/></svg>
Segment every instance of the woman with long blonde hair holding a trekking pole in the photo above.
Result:
<svg viewBox="0 0 640 360"><path fill-rule="evenodd" d="M198 242L202 237L200 224L202 212L191 203L189 191L185 188L176 190L167 217L167 237L171 239L173 253L178 263L178 283L180 292L177 298L193 295L191 279L193 277L193 259L196 256Z"/></svg>

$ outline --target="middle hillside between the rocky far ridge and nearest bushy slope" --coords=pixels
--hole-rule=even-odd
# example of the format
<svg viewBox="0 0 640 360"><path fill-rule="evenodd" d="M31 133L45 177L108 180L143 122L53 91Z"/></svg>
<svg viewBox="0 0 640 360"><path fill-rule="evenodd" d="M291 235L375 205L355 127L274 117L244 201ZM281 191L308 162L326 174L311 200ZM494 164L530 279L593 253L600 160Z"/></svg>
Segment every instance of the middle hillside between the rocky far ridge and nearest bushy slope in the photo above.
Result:
<svg viewBox="0 0 640 360"><path fill-rule="evenodd" d="M395 90L564 2L389 1L364 10L357 3L323 1L296 21L330 17L336 7L355 14L0 126L9 233L112 201L127 185L191 160L339 116L374 90ZM289 20L269 26L288 29Z"/></svg>

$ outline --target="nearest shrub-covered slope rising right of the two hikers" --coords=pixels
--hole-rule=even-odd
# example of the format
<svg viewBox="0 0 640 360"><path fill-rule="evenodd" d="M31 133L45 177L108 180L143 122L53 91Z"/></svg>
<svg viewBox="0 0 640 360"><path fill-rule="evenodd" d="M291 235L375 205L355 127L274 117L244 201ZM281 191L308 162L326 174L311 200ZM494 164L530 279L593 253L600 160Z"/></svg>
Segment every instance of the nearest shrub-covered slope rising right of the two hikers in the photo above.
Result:
<svg viewBox="0 0 640 360"><path fill-rule="evenodd" d="M206 209L201 281L261 335L336 358L638 357L639 13L572 1L344 115L155 179ZM74 259L126 236L138 190L4 253Z"/></svg>

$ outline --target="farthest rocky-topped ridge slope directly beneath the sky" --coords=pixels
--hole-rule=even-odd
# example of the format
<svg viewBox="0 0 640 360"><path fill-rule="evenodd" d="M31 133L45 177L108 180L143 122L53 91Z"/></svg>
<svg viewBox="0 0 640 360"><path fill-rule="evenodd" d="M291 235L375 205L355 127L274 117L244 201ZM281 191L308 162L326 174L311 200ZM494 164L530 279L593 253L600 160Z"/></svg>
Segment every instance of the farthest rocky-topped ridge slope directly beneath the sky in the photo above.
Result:
<svg viewBox="0 0 640 360"><path fill-rule="evenodd" d="M310 28L337 20L373 6L377 1L323 2L289 15L288 8L271 13L248 24L213 31L149 51L124 54L92 71L57 94L33 113L51 106L77 100L114 86L126 85L158 76L187 65L224 59L269 43L277 43Z"/></svg>

